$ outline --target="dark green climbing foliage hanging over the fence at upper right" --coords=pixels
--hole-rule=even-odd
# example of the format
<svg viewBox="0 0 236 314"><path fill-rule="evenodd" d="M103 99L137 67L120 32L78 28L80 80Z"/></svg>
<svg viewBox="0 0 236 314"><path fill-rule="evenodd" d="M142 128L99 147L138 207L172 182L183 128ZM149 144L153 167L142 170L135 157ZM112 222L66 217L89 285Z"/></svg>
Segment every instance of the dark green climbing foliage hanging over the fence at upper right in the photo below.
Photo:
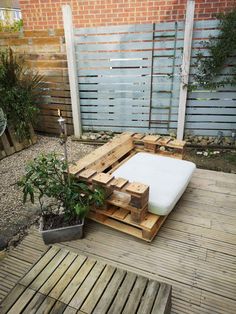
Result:
<svg viewBox="0 0 236 314"><path fill-rule="evenodd" d="M209 41L203 42L204 48L210 53L209 57L203 56L201 52L197 54L195 65L194 81L190 89L203 87L215 89L227 84L236 85L236 62L232 63L232 57L236 52L236 9L232 12L220 14L219 35L211 37ZM227 74L224 79L220 79L222 70L227 67Z"/></svg>

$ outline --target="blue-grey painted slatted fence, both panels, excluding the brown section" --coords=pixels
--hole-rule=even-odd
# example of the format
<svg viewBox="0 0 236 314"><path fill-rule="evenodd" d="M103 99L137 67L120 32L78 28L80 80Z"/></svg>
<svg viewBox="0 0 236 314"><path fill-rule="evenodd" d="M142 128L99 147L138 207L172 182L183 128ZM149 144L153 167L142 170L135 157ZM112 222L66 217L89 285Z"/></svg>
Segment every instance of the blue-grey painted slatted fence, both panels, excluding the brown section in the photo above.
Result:
<svg viewBox="0 0 236 314"><path fill-rule="evenodd" d="M202 41L216 36L217 26L214 20L194 24L191 82ZM183 22L75 29L83 128L163 134L176 129L183 37ZM235 90L189 92L185 129L231 135Z"/></svg>

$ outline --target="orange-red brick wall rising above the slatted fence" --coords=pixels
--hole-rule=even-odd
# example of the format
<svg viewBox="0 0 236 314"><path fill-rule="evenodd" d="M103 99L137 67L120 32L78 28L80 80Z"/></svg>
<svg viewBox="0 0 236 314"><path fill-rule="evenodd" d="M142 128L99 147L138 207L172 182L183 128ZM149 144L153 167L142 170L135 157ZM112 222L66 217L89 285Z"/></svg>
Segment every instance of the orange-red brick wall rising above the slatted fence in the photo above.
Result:
<svg viewBox="0 0 236 314"><path fill-rule="evenodd" d="M187 0L20 0L24 29L62 27L61 6L70 4L76 27L183 20ZM236 7L236 0L196 0L196 19Z"/></svg>

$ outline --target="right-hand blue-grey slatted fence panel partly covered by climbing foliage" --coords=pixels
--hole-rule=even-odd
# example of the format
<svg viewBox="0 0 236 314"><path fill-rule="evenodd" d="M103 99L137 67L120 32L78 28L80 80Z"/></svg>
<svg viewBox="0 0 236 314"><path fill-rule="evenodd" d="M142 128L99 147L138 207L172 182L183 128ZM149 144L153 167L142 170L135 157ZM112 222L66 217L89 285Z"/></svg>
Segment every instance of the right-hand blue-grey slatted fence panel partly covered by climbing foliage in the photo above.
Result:
<svg viewBox="0 0 236 314"><path fill-rule="evenodd" d="M219 33L218 21L197 21L193 33L193 49L191 58L190 81L193 82L196 55L199 51L209 56L202 41ZM228 60L219 79L230 73L230 66L236 63L236 55ZM199 135L217 135L223 131L231 136L236 129L236 86L225 86L216 90L199 89L188 93L185 131Z"/></svg>

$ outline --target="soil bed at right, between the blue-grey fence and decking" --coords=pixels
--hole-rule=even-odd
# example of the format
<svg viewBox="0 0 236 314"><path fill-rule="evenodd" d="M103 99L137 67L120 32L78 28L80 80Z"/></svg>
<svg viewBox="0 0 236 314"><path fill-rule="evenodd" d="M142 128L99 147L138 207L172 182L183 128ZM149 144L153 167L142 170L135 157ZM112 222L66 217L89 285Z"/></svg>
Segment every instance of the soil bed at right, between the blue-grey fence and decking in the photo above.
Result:
<svg viewBox="0 0 236 314"><path fill-rule="evenodd" d="M198 155L197 152L205 152L208 156ZM184 159L194 162L201 169L236 173L236 150L187 148Z"/></svg>

